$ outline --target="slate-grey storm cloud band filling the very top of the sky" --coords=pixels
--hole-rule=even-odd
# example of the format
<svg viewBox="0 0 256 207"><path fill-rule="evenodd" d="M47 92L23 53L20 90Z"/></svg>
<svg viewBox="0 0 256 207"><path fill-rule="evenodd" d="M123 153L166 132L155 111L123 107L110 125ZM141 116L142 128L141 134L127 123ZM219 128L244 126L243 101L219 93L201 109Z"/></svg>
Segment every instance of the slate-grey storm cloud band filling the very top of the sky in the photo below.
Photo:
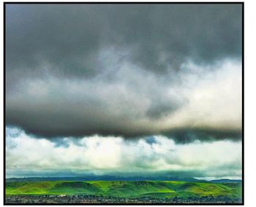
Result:
<svg viewBox="0 0 256 207"><path fill-rule="evenodd" d="M186 58L240 57L241 5L7 5L9 70L37 74L46 61L62 75L88 77L109 45L129 48L154 72Z"/></svg>

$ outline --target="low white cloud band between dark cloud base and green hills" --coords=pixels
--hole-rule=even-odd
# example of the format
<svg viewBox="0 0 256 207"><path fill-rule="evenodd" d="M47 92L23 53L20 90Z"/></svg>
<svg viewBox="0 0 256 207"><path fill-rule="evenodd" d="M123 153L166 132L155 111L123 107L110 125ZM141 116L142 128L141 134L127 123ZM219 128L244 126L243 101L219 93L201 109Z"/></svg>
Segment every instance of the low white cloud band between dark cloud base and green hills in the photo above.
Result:
<svg viewBox="0 0 256 207"><path fill-rule="evenodd" d="M7 176L134 175L241 179L241 142L175 144L165 136L136 141L121 137L35 139L7 128Z"/></svg>

